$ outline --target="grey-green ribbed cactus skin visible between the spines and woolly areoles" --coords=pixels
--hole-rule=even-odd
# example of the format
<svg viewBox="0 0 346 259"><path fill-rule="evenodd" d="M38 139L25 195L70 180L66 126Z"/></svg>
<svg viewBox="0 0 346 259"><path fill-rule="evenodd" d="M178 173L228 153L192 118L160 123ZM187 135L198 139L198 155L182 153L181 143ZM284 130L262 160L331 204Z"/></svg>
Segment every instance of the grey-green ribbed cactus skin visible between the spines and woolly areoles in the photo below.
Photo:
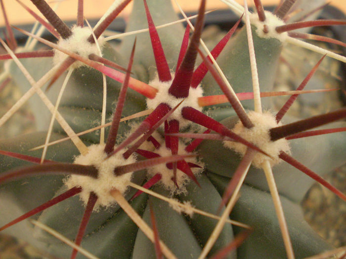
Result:
<svg viewBox="0 0 346 259"><path fill-rule="evenodd" d="M169 0L148 1L148 5L156 25L177 19ZM166 11L162 11L162 8L165 8ZM162 16L162 14L165 15ZM141 27L139 28L138 26ZM141 0L135 0L134 11L132 12L127 30L141 29L143 28L142 26L146 27L144 7ZM168 27L159 30L159 35L163 39L162 45L170 68L175 70L174 66L179 53L183 29L180 25L173 28ZM253 32L253 35L256 34ZM247 54L248 46L244 43L246 42L245 39L246 34L243 29L238 33L237 37L231 39L231 42L227 44L226 49L224 49L217 60L224 73L230 78L235 92L252 91L249 57ZM127 62L125 61L129 59L132 41L133 38L126 38L120 53L116 53L115 50L107 47L106 52L108 53L105 54L105 57L110 60L116 60L120 65L126 66ZM262 39L256 36L254 41L257 62L259 64L261 91L270 91L282 45L276 39ZM151 53L150 37L147 34L142 34L137 37L137 42L135 66L133 68L134 77L148 82L155 73L155 60ZM34 76L35 78L40 78L44 72L37 69L38 65L41 64L42 67L48 68L46 64L49 62L50 58L44 58L43 61L38 59L23 61L26 68L32 69L29 72L37 76ZM261 64L264 65L261 66ZM11 73L16 80L16 84L21 86L23 91L30 87L14 65L11 68ZM49 97L53 103L57 96L57 86L61 85L61 82L62 79L59 79L55 83L55 87L53 86L49 92ZM206 95L222 94L210 75L207 75L204 79L202 86ZM108 118L111 117L114 111L114 101L119 94L119 88L119 83L112 79L107 80ZM36 112L35 116L40 118L40 124L37 125L38 129L45 130L50 116L42 117L44 109L40 105L41 101L33 100L33 111L34 113ZM101 74L89 68L76 70L68 84L59 111L75 132L80 132L95 126L95 124L100 124L101 106ZM244 103L244 106L246 109L252 110L253 102L247 101ZM265 103L264 107L270 108L270 102ZM129 89L123 115L127 116L144 109L145 98ZM234 111L229 104L218 105L214 110L209 110L208 114L228 127L235 122ZM289 121L290 119L287 120ZM338 125L340 124L343 123L338 123ZM125 135L130 129L128 124L121 124L120 127L119 131L122 135ZM57 125L54 127L54 132L54 138L58 138L62 134L61 128ZM0 149L40 157L41 151L33 153L27 150L42 144L41 142L44 138L44 132L37 132L12 140L2 140ZM299 160L307 167L317 171L319 174L324 174L328 170L332 170L333 167L338 167L345 162L343 150L345 150L346 137L343 133L337 133L318 138L318 142L313 138L307 138L306 142L305 140L292 141L292 153L299 157ZM82 140L88 146L98 143L99 136L95 133L89 133L84 135ZM199 153L206 163L206 173L198 178L202 188L199 188L191 181L186 186L188 190L187 195L181 194L177 198L181 201L191 200L196 208L216 213L223 190L229 182L229 177L232 176L233 171L239 164L240 158L233 151L223 148L220 143L214 141L203 141L199 147ZM71 142L64 142L48 148L47 159L72 162L73 156L77 154L78 150L74 148ZM0 163L4 165L1 166L2 172L28 164L3 155L0 155ZM274 170L277 171L274 173L275 180L281 194L297 258L315 255L330 249L331 247L318 237L303 220L299 206L299 202L312 184L312 180L287 164L278 165ZM234 252L229 258L286 257L271 197L267 193L268 187L263 174L258 171L255 168L251 169L246 179L246 185L242 187L242 195L230 216L232 219L250 224L255 228L255 231L238 249L237 253ZM138 175L142 177L138 177L134 182L141 184L144 180L144 174ZM1 213L0 224L3 225L9 222L16 216L20 216L60 193L65 188L61 182L62 178L60 176L32 177L1 185L0 204L4 204L6 214L2 215ZM42 186L44 187L42 188ZM132 189L128 193L128 199L133 195L134 191ZM167 190L160 186L155 186L154 191L165 196L169 195ZM199 215L194 215L192 219L189 219L173 211L166 202L157 198L150 198L150 200L157 218L160 238L164 243L171 248L178 258L184 258L186 255L193 255L193 258L197 258L201 252L201 246L207 241L216 221ZM147 201L147 195L141 194L131 202L131 205L150 224ZM69 213L65 212L66 209L69 209ZM16 211L16 215L12 214L12 211ZM45 210L38 219L68 238L74 239L83 212L84 205L76 196ZM19 223L6 231L12 235L20 236L49 253L62 258L69 257L72 251L71 248L44 233L41 229L33 230L29 222ZM24 234L22 234L23 232ZM32 238L32 232L34 232L35 238ZM238 232L238 227L231 227L226 224L209 255L213 255L228 244L233 239L233 235ZM125 234L126 237L124 236ZM140 230L137 231L136 226L124 211L119 210L119 206L92 214L85 235L82 247L100 258L155 258L155 250L152 243ZM78 258L83 258L83 256L79 254Z"/></svg>

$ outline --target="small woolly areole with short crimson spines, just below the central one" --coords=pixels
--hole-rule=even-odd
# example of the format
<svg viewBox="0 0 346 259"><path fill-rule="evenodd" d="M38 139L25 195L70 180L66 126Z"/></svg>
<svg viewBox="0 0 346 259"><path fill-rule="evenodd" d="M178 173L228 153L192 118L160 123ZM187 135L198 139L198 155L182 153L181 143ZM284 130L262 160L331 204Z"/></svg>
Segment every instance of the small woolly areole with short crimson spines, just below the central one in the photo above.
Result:
<svg viewBox="0 0 346 259"><path fill-rule="evenodd" d="M188 152L185 151L186 145L184 145L181 141L179 141L179 148L178 148L178 154L184 155L188 154ZM172 150L170 148L166 148L165 144L163 143L161 147L157 150L155 150L155 153L161 155L161 156L171 156ZM194 163L201 166L201 168L191 168L191 171L196 176L203 170L203 165L201 165L201 162L197 161L196 157L189 157L185 158L185 161L187 163ZM167 190L170 190L172 194L180 194L180 193L186 193L186 188L184 185L186 185L188 182L191 181L191 178L188 177L185 173L181 172L179 169L176 170L176 183L179 186L179 189L176 188L174 182L172 181L173 178L173 170L169 169L166 164L159 164L155 165L153 167L150 167L147 169L149 177L153 177L157 173L161 174L162 178L158 182L159 184L163 185Z"/></svg>

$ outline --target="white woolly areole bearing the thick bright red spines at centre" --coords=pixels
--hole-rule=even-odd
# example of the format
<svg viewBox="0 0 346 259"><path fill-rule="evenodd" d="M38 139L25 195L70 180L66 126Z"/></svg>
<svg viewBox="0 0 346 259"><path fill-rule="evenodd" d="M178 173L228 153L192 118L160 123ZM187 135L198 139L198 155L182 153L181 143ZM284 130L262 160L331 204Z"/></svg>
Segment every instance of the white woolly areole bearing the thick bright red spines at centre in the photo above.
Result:
<svg viewBox="0 0 346 259"><path fill-rule="evenodd" d="M172 75L174 76L174 74ZM181 115L181 110L184 107L192 107L198 111L202 111L202 107L198 105L198 98L203 96L203 89L201 85L198 85L196 88L190 87L189 96L186 98L176 98L171 95L168 90L171 87L173 79L167 82L161 82L159 77L156 76L155 79L149 82L149 84L156 89L158 92L153 99L147 98L147 108L155 109L159 104L165 103L169 105L172 109L177 106L182 100L182 104L172 113L170 120L176 119L179 121L179 128L183 129L191 125L191 121L184 119ZM162 127L162 126L161 126Z"/></svg>

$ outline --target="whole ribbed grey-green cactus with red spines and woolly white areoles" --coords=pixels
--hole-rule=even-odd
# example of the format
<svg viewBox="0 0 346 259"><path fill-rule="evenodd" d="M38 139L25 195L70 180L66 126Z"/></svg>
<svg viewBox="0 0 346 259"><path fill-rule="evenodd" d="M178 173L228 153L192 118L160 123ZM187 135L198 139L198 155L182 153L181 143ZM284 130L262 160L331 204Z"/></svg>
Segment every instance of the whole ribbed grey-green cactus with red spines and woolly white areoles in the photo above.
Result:
<svg viewBox="0 0 346 259"><path fill-rule="evenodd" d="M0 141L0 230L62 258L303 258L332 249L304 221L299 204L314 180L346 200L319 176L345 163L345 123L334 121L346 110L304 119L285 113L326 55L346 58L287 31L345 21L286 24L294 1L283 1L276 16L259 0L254 14L246 1L245 7L225 1L245 13L246 26L232 36L237 23L212 51L217 65L199 46L205 0L195 28L185 32L181 24L155 28L177 20L170 0L134 0L127 32L149 32L125 37L119 51L101 35L130 0L115 1L93 33L84 26L83 1L73 28L44 0L32 1L59 42L19 29L55 49L19 54L10 28L7 44L1 40L9 53L1 58L12 59L4 75L25 93L23 102L33 96L37 132ZM286 42L325 55L273 115L262 112L272 103L260 97L277 94L275 68ZM254 101L241 104L235 92ZM121 123L121 116L131 121ZM106 121L110 128L76 136ZM35 220L23 221L29 217Z"/></svg>

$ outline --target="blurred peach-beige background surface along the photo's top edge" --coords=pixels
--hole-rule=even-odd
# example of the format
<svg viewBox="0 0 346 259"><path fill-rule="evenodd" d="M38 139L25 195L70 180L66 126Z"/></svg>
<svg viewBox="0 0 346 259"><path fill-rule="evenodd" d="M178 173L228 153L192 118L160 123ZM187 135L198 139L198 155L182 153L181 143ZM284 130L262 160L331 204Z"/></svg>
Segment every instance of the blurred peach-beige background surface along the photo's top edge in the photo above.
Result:
<svg viewBox="0 0 346 259"><path fill-rule="evenodd" d="M7 17L11 24L23 24L32 23L34 21L33 17L25 11L17 1L15 0L3 0L7 12ZM37 10L30 0L22 0L27 5L31 6L33 10ZM111 5L114 0L84 0L85 2L85 16L87 19L100 17L107 7ZM177 0L184 10L196 9L199 0ZM243 0L237 0L238 2L243 2ZM263 4L276 4L279 0L262 0ZM313 1L313 0L311 0ZM51 6L54 6L55 1L50 1ZM58 15L63 19L74 19L77 16L77 0L64 0L60 3L57 10ZM248 2L253 2L248 0ZM331 0L331 4L337 6L338 8L346 12L346 0ZM207 0L207 8L226 8L225 4L218 0ZM130 8L127 8L127 12ZM4 24L3 16L0 15L0 25Z"/></svg>

